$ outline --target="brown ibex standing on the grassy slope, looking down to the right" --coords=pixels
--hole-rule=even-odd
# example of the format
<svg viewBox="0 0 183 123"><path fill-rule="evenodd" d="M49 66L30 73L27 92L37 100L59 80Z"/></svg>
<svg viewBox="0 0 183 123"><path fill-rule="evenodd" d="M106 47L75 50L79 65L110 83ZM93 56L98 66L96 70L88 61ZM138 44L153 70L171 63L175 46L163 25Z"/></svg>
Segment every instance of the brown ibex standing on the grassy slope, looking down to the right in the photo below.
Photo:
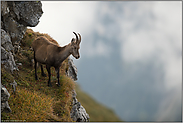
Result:
<svg viewBox="0 0 183 123"><path fill-rule="evenodd" d="M59 68L62 62L71 54L76 58L79 59L79 49L80 49L80 42L81 42L81 35L78 33L79 38L75 32L76 39L72 38L71 43L64 47L60 47L58 44L50 42L46 37L41 36L35 39L32 42L32 48L34 51L34 67L35 67L35 79L38 80L37 77L37 62L41 65L41 74L42 76L46 76L43 71L42 64L46 64L46 69L48 71L48 86L51 86L50 78L51 72L50 67L54 67L57 73L58 79L58 86L60 86L59 82Z"/></svg>

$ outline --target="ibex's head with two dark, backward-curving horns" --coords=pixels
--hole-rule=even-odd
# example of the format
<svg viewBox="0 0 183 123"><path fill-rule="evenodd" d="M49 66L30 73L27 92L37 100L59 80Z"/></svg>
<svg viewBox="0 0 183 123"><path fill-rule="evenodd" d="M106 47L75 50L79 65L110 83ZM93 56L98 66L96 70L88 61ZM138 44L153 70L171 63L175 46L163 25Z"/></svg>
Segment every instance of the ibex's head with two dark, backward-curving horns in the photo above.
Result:
<svg viewBox="0 0 183 123"><path fill-rule="evenodd" d="M79 35L79 38L77 36L77 34L75 32L73 32L75 35L76 35L76 39L75 38L72 38L71 40L71 54L76 58L78 59L80 57L79 55L79 44L81 43L81 35L78 33Z"/></svg>

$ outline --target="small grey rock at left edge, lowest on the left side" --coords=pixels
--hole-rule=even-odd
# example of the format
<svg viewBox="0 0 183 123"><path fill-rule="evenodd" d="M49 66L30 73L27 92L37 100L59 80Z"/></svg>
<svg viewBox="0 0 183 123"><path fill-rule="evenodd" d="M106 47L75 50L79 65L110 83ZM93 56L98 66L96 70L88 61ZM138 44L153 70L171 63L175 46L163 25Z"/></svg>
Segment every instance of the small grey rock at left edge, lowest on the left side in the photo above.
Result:
<svg viewBox="0 0 183 123"><path fill-rule="evenodd" d="M1 112L9 113L11 112L11 108L8 104L8 99L10 97L7 89L1 84Z"/></svg>

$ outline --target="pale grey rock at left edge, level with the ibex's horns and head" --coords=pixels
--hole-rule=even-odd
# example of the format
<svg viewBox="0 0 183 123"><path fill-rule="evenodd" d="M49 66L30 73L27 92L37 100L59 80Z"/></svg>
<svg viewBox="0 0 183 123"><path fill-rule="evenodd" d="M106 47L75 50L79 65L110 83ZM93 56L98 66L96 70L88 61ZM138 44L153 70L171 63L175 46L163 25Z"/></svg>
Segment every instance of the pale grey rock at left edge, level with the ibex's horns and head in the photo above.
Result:
<svg viewBox="0 0 183 123"><path fill-rule="evenodd" d="M1 46L3 46L7 51L13 51L14 49L10 36L3 29L1 29Z"/></svg>

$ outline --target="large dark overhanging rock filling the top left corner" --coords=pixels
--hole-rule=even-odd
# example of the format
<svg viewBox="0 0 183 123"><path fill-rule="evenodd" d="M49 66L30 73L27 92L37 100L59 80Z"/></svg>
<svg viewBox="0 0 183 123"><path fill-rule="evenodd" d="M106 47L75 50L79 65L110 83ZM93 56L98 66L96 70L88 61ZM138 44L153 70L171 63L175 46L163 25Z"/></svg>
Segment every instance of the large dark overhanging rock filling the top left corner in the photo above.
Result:
<svg viewBox="0 0 183 123"><path fill-rule="evenodd" d="M40 1L1 1L1 27L10 35L13 44L23 38L27 26L39 23L42 14Z"/></svg>

